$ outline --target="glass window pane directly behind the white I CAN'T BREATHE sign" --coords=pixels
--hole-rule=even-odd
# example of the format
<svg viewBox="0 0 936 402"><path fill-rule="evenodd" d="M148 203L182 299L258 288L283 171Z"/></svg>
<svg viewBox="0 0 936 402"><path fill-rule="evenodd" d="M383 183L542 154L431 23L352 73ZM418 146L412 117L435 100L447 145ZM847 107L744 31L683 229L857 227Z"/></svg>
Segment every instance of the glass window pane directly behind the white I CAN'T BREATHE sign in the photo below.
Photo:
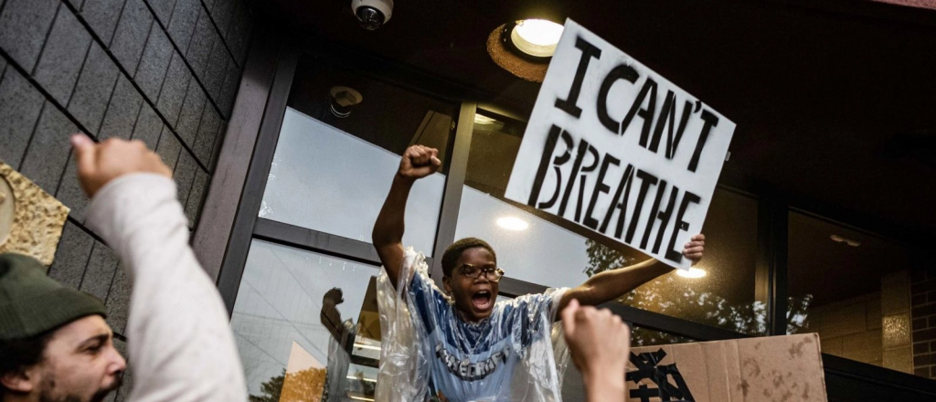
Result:
<svg viewBox="0 0 936 402"><path fill-rule="evenodd" d="M475 117L456 238L479 237L497 251L510 278L559 287L648 257L575 223L504 198L525 126L480 111ZM519 224L508 224L507 220ZM518 230L519 229L519 230ZM766 332L766 304L754 294L755 199L717 190L703 232L707 272L699 279L659 277L622 302L747 334Z"/></svg>

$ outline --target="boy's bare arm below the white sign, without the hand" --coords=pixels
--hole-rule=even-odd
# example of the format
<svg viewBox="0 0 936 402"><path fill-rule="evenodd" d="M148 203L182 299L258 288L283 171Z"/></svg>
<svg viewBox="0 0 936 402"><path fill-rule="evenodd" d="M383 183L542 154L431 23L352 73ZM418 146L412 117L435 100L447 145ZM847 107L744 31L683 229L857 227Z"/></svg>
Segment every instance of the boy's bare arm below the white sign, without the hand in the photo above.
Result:
<svg viewBox="0 0 936 402"><path fill-rule="evenodd" d="M650 259L633 266L607 270L594 275L585 283L572 289L569 295L578 299L583 306L597 306L621 297L672 270L672 266Z"/></svg>

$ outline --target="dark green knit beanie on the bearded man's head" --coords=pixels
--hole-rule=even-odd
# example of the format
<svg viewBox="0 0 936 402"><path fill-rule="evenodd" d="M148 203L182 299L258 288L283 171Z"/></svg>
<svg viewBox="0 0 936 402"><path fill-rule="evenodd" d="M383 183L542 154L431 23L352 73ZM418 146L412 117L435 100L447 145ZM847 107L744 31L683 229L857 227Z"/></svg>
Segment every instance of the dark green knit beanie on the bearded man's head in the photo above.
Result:
<svg viewBox="0 0 936 402"><path fill-rule="evenodd" d="M35 337L94 314L107 316L94 295L47 277L35 258L0 254L0 341Z"/></svg>

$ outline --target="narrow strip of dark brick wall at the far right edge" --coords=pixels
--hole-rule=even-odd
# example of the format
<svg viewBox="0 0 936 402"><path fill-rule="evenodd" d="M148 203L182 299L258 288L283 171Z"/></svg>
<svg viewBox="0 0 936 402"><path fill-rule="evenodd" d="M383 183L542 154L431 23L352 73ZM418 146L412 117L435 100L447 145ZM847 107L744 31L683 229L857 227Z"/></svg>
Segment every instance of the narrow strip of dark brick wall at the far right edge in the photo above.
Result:
<svg viewBox="0 0 936 402"><path fill-rule="evenodd" d="M914 374L936 379L936 270L911 273Z"/></svg>

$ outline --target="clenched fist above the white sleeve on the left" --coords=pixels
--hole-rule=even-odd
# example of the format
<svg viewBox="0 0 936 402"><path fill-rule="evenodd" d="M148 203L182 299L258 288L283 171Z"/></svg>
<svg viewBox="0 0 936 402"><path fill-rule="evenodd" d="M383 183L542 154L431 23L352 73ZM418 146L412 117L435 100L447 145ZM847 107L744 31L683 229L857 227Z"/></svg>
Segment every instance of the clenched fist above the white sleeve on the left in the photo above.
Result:
<svg viewBox="0 0 936 402"><path fill-rule="evenodd" d="M146 149L143 141L109 138L95 144L83 134L71 136L78 164L78 180L89 197L95 196L101 187L112 179L131 173L154 173L167 178L172 170L153 151Z"/></svg>

